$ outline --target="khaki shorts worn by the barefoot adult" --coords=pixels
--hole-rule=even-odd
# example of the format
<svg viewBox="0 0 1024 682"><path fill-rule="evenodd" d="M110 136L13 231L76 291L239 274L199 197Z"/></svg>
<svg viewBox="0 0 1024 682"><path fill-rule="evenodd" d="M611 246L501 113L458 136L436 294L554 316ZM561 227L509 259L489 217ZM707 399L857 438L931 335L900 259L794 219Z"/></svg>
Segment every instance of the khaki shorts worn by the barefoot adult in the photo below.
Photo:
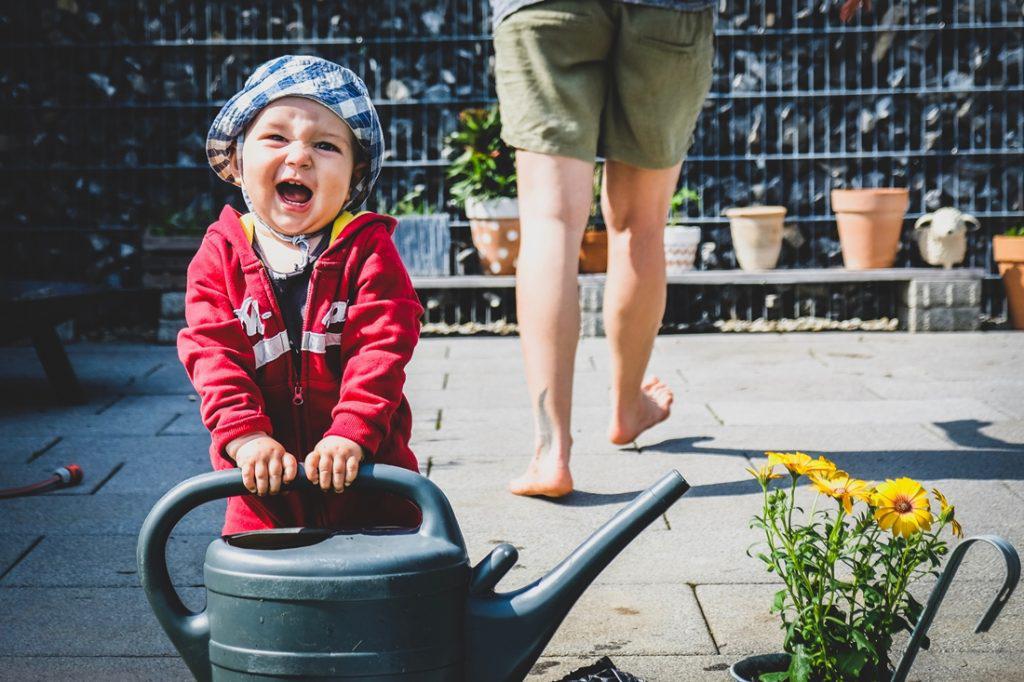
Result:
<svg viewBox="0 0 1024 682"><path fill-rule="evenodd" d="M502 138L640 168L680 163L711 88L714 15L611 0L548 0L495 33Z"/></svg>

